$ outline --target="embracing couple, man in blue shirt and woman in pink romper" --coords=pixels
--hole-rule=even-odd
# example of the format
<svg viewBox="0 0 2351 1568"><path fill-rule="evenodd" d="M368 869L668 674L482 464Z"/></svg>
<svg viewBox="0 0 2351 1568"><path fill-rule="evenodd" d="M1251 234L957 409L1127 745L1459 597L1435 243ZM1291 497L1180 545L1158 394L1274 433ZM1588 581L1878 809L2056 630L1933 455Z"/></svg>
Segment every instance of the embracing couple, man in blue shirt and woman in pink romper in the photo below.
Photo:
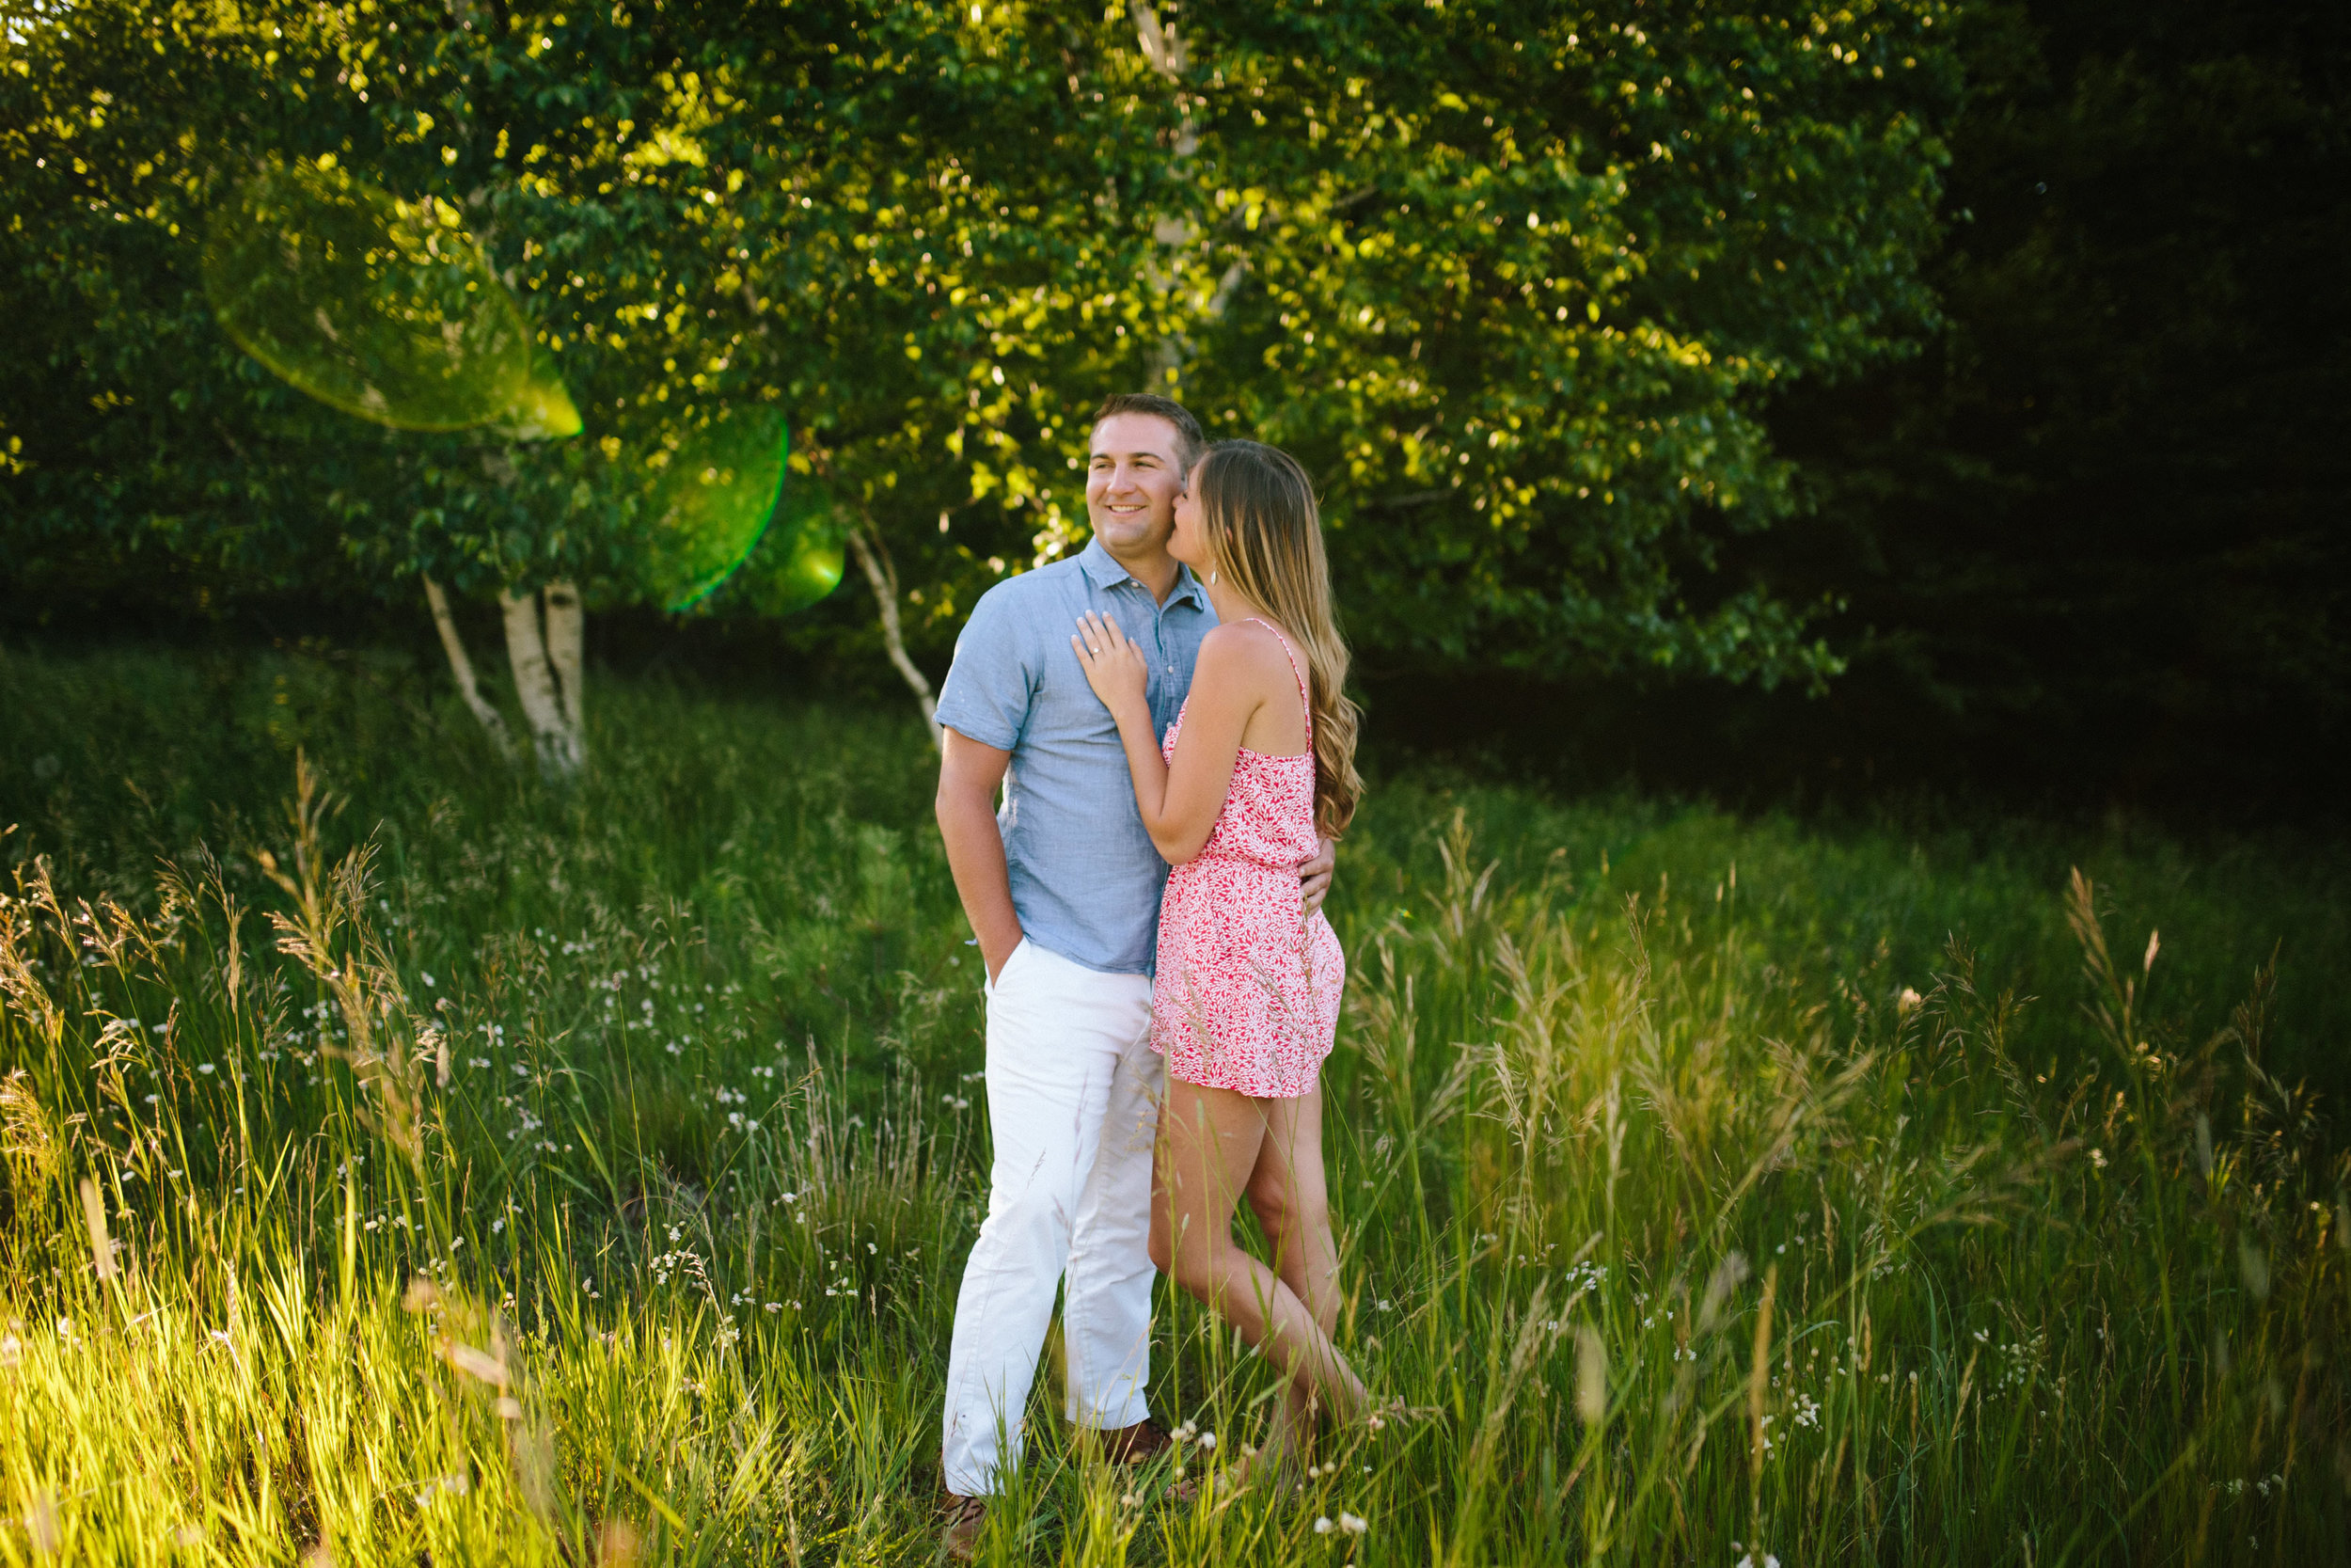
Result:
<svg viewBox="0 0 2351 1568"><path fill-rule="evenodd" d="M1056 1288L1065 1418L1114 1462L1168 1446L1154 1269L1286 1380L1260 1465L1366 1406L1331 1342L1319 1072L1345 959L1321 896L1361 780L1314 487L1131 395L1096 414L1086 512L1084 552L980 597L938 703L994 1138L947 1356L955 1556L1020 1458ZM1244 1197L1270 1265L1232 1237Z"/></svg>

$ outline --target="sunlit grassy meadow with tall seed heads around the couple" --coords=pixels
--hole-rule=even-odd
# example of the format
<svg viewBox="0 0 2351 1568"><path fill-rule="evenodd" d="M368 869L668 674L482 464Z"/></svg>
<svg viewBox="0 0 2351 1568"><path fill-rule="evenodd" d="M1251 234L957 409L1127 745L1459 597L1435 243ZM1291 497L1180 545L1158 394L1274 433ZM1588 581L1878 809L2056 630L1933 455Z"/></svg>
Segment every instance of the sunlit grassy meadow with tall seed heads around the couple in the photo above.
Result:
<svg viewBox="0 0 2351 1568"><path fill-rule="evenodd" d="M0 1559L936 1559L987 1124L910 712L604 679L555 790L397 658L0 651ZM1375 769L1396 1406L1237 1486L1265 1368L1166 1293L1197 1493L1039 1387L983 1559L2342 1561L2346 877Z"/></svg>

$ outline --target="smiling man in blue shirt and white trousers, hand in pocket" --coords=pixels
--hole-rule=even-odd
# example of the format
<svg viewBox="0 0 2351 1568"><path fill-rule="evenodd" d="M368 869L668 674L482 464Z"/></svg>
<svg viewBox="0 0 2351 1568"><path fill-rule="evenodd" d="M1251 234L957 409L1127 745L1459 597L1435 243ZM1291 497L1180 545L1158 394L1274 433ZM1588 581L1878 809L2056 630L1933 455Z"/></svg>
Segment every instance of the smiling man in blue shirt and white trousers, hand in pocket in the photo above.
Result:
<svg viewBox="0 0 2351 1568"><path fill-rule="evenodd" d="M938 830L987 971L994 1135L947 1354L940 1465L945 1544L959 1559L1020 1458L1056 1286L1067 1420L1121 1462L1168 1441L1145 1408L1161 1084L1150 1001L1168 867L1070 635L1086 611L1114 618L1152 656L1152 722L1176 722L1215 625L1208 595L1166 552L1204 447L1199 421L1168 397L1103 402L1086 473L1093 541L980 597L938 701ZM1300 877L1312 910L1331 882L1328 844Z"/></svg>

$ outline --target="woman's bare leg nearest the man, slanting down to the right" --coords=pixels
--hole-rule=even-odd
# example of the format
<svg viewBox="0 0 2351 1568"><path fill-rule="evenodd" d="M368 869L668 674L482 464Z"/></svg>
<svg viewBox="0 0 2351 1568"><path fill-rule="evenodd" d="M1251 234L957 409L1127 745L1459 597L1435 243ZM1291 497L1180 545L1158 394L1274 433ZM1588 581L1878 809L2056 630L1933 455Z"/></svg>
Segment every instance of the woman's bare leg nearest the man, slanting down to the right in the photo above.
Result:
<svg viewBox="0 0 2351 1568"><path fill-rule="evenodd" d="M1239 1328L1241 1338L1274 1363L1298 1403L1314 1399L1324 1408L1352 1418L1366 1408L1364 1385L1347 1359L1338 1354L1328 1328L1317 1319L1307 1298L1232 1239L1232 1206L1255 1182L1270 1126L1279 1121L1284 1138L1295 1145L1298 1117L1274 1107L1295 1105L1295 1100L1251 1100L1230 1088L1168 1081L1159 1119L1164 1159L1152 1194L1152 1260L1208 1309ZM1314 1124L1319 1131L1319 1103ZM1291 1159L1279 1161L1284 1171L1293 1171L1298 1164L1298 1150L1291 1147L1288 1154ZM1312 1171L1319 1187L1319 1138ZM1281 1192L1295 1199L1295 1190L1284 1178L1270 1180L1281 1180ZM1326 1213L1326 1204L1317 1204L1317 1208ZM1324 1232L1328 1234L1328 1218L1324 1218ZM1307 1284L1312 1298L1326 1302L1335 1324L1335 1284L1331 1288L1314 1284L1319 1269L1312 1255L1317 1248L1307 1244L1286 1251L1307 1258L1307 1272L1300 1281ZM1335 1267L1324 1272L1326 1279L1331 1274Z"/></svg>

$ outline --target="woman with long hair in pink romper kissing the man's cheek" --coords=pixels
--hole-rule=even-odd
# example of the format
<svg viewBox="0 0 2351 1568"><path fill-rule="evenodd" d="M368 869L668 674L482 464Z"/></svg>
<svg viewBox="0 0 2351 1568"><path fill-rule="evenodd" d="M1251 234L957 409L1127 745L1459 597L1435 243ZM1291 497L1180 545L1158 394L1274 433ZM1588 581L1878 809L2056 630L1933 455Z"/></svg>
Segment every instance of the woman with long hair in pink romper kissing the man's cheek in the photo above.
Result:
<svg viewBox="0 0 2351 1568"><path fill-rule="evenodd" d="M1072 644L1119 724L1143 825L1176 867L1152 985L1152 1048L1168 1070L1152 1262L1286 1378L1281 1455L1317 1408L1366 1408L1331 1342L1338 1248L1321 1159L1319 1074L1345 957L1331 922L1298 898L1298 863L1317 835L1338 837L1364 788L1357 708L1340 691L1347 646L1295 458L1258 442L1211 447L1176 501L1168 555L1201 578L1218 628L1166 743L1152 733L1143 651L1100 616L1081 618ZM1241 1197L1272 1267L1232 1239Z"/></svg>

